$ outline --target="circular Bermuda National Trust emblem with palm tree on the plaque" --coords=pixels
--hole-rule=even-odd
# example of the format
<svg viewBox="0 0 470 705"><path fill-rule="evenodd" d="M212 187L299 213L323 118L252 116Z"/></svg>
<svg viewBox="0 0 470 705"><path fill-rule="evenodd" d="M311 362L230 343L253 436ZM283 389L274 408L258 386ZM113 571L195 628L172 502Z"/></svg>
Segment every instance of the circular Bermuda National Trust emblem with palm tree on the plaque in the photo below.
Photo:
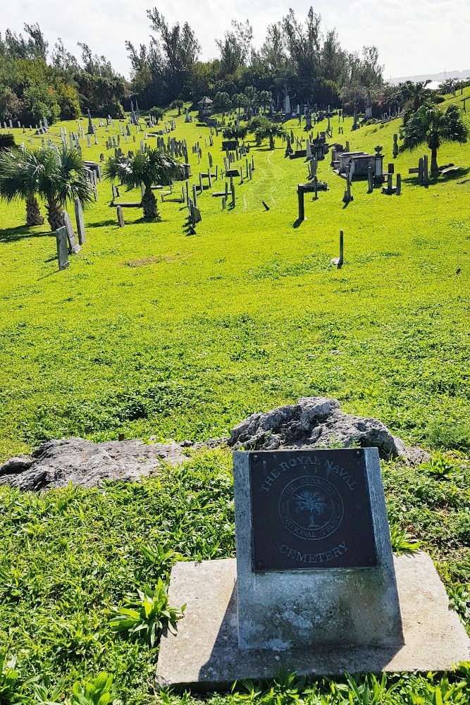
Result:
<svg viewBox="0 0 470 705"><path fill-rule="evenodd" d="M299 539L326 539L340 526L343 513L340 493L322 477L297 477L280 494L280 518Z"/></svg>

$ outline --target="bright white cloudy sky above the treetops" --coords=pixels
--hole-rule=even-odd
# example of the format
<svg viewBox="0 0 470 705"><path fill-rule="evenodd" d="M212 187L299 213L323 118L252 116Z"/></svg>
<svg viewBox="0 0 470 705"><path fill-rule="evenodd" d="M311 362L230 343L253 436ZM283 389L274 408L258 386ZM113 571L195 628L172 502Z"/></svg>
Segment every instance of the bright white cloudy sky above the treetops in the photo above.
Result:
<svg viewBox="0 0 470 705"><path fill-rule="evenodd" d="M125 40L148 44L146 11L152 6L169 23L189 22L202 44L201 58L212 59L214 40L230 29L230 20L249 19L259 46L268 24L290 7L304 18L310 5L323 28L336 27L348 51L376 44L387 80L470 69L470 0L0 0L0 32L20 32L23 23L37 22L51 46L61 37L80 56L77 42L85 42L128 77Z"/></svg>

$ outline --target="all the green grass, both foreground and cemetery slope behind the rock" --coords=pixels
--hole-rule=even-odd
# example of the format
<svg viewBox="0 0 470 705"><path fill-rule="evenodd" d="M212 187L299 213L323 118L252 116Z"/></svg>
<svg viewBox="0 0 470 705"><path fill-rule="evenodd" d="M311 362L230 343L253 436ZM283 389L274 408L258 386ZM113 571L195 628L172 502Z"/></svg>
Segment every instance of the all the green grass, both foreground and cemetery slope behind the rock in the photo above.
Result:
<svg viewBox="0 0 470 705"><path fill-rule="evenodd" d="M187 138L198 183L191 146L201 143L206 171L209 129L175 119L171 137ZM340 136L337 118L332 124L333 140L364 151L382 145L385 166L394 161L398 121L350 133L347 118ZM299 134L297 121L287 126ZM13 131L29 140L29 131ZM117 133L116 123L109 134ZM58 144L58 125L49 135ZM85 159L107 156L107 136L99 130L97 147L82 141ZM219 169L220 142L210 149ZM61 272L47 223L25 228L23 204L0 204L0 457L62 436L207 439L254 411L333 396L409 443L449 451L450 470L442 456L415 470L385 464L385 489L392 526L423 541L468 625L470 143L439 151L440 164L462 167L458 176L420 188L408 169L426 150L400 154L402 196L368 195L366 183L353 183L347 208L328 155L319 178L330 190L316 202L306 196L297 228L307 167L284 149L280 140L274 151L252 147L254 180L235 180L233 211L209 191L199 196L196 235L185 234L187 209L173 203L160 205L158 223L126 209L118 228L111 185L99 185L99 202L85 212L87 243ZM340 229L338 270L330 258ZM158 646L114 637L112 608L168 577L175 560L233 555L230 455L197 456L142 485L44 496L2 488L0 497L0 654L18 659L18 699L39 701L37 684L47 691L51 682L58 694L49 689L49 699L63 700L73 682L105 670L123 703L154 701ZM449 678L390 681L397 689L376 701L468 703L468 670ZM347 702L335 685L318 688L280 680L247 699Z"/></svg>

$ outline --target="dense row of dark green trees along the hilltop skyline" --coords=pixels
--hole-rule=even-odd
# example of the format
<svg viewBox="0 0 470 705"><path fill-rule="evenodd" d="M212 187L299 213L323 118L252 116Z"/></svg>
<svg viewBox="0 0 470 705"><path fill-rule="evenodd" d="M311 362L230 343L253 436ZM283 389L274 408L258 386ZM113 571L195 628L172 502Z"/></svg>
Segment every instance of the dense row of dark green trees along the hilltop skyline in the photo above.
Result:
<svg viewBox="0 0 470 705"><path fill-rule="evenodd" d="M221 112L280 109L288 94L293 105L330 105L352 113L364 110L369 90L374 115L381 116L397 108L416 110L434 99L426 84L385 83L377 47L343 49L336 30L323 29L313 8L303 19L290 9L268 25L258 48L249 20L233 20L216 39L218 56L209 61L200 60L201 44L187 22L171 25L157 8L148 10L147 18L149 44L125 42L130 80L84 42L78 42L77 59L60 38L49 47L37 24L25 24L24 35L7 29L0 34L0 118L29 124L46 116L54 122L78 118L87 108L118 118L131 99L161 118L163 106L180 111L183 101L195 104L204 95Z"/></svg>

